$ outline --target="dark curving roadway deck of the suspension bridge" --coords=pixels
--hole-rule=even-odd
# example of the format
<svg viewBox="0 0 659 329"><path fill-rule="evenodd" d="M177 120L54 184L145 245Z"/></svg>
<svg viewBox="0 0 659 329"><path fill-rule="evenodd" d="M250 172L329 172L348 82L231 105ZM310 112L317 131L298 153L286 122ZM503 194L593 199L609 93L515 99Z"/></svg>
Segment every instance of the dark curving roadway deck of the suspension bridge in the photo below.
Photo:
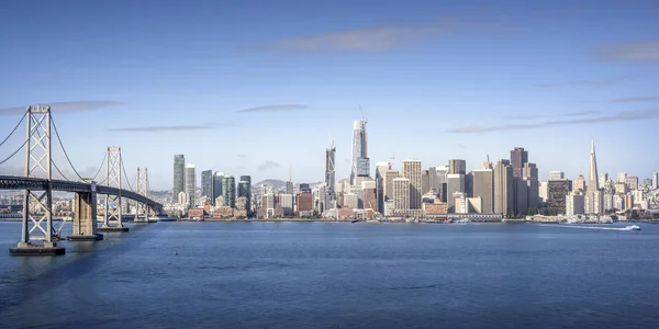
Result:
<svg viewBox="0 0 659 329"><path fill-rule="evenodd" d="M34 190L45 191L48 184L51 184L52 191L65 191L65 192L77 192L77 193L91 193L92 184L82 182L70 182L60 180L47 180L38 178L24 178L15 175L0 175L0 190ZM96 184L94 184L96 185ZM148 204L156 209L163 209L163 205L155 202L142 194L135 193L130 190L116 189L105 185L96 185L97 194L119 195L121 192L122 197L126 197L139 203Z"/></svg>

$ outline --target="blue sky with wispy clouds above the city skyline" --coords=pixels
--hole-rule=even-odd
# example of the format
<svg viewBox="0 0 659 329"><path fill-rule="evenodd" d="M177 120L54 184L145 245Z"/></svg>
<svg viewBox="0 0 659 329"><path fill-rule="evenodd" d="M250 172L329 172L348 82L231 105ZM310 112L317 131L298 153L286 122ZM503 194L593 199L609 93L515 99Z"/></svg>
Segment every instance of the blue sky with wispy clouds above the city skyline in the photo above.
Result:
<svg viewBox="0 0 659 329"><path fill-rule="evenodd" d="M473 169L523 146L541 179L573 179L594 140L601 173L650 177L659 3L537 2L3 1L0 138L15 107L51 104L83 172L118 145L154 189L171 188L175 154L254 181L290 166L320 181L332 139L349 174L361 104L371 163Z"/></svg>

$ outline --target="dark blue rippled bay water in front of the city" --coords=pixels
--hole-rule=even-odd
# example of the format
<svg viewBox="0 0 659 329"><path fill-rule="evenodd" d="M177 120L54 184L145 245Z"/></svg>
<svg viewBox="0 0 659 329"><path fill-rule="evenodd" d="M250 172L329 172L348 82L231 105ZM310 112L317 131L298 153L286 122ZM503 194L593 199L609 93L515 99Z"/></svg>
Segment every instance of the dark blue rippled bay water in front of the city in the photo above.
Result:
<svg viewBox="0 0 659 329"><path fill-rule="evenodd" d="M0 328L659 328L640 226L157 223L10 258L0 223Z"/></svg>

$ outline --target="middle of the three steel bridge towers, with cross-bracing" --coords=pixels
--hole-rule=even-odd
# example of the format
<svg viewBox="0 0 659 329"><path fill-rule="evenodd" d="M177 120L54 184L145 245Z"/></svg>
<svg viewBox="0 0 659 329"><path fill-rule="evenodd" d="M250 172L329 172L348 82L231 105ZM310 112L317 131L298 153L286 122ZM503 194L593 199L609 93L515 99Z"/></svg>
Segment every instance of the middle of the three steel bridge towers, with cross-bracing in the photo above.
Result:
<svg viewBox="0 0 659 329"><path fill-rule="evenodd" d="M105 184L119 192L116 195L105 194L105 214L103 215L103 226L99 227L99 231L129 231L129 228L123 226L121 218L122 163L121 147L109 146L105 156Z"/></svg>

